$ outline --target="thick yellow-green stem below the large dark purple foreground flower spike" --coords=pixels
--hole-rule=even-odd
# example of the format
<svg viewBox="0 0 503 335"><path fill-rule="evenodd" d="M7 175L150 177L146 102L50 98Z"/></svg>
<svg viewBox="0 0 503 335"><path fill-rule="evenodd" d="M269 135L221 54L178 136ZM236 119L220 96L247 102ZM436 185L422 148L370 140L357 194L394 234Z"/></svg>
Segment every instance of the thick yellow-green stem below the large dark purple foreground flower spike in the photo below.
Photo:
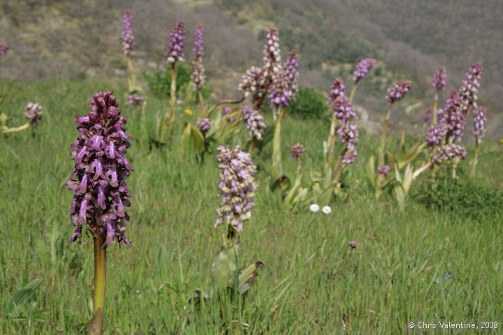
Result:
<svg viewBox="0 0 503 335"><path fill-rule="evenodd" d="M106 287L106 244L105 238L99 233L93 237L94 241L94 290L93 290L93 318L89 322L88 335L103 334L105 313Z"/></svg>

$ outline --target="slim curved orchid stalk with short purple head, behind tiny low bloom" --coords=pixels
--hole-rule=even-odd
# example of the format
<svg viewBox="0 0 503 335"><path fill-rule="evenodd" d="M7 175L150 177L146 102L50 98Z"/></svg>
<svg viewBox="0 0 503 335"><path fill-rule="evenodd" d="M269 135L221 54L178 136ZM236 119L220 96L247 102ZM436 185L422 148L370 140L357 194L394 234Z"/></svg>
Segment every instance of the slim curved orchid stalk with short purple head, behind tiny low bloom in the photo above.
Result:
<svg viewBox="0 0 503 335"><path fill-rule="evenodd" d="M377 165L378 166L383 166L385 165L384 162L384 150L386 149L386 131L388 130L388 122L391 117L391 112L393 112L393 108L395 107L395 103L398 101L402 100L402 98L407 94L411 87L411 82L409 80L400 80L399 82L396 82L393 87L390 87L388 89L388 94L386 95L386 99L388 100L388 112L386 112L386 118L383 121L383 124L381 126L381 141L379 143L379 149L378 149L378 158L377 158ZM383 175L382 174L377 174L376 175L376 195L377 198L381 195L381 189L382 189L382 179Z"/></svg>

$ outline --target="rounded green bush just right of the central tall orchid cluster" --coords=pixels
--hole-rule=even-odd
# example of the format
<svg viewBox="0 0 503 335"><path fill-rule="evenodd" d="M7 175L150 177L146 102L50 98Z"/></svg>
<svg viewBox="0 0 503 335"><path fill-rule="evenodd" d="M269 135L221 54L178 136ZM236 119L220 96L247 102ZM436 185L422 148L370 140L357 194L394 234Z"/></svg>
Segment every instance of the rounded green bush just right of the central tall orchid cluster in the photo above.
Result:
<svg viewBox="0 0 503 335"><path fill-rule="evenodd" d="M289 107L289 112L302 119L323 117L327 112L326 98L319 91L299 87L296 99Z"/></svg>

